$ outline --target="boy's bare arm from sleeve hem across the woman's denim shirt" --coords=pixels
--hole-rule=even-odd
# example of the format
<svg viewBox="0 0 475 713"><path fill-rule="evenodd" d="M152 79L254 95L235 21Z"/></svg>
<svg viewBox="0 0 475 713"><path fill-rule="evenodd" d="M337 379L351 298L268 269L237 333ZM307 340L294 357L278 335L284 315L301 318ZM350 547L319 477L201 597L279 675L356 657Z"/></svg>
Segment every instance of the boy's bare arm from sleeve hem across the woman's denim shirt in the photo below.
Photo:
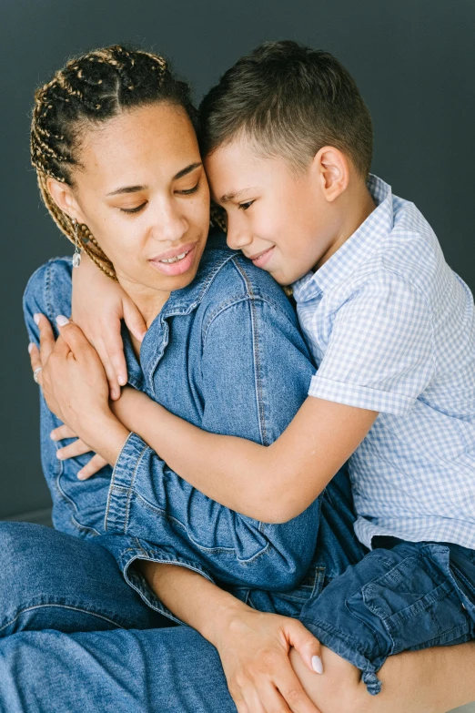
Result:
<svg viewBox="0 0 475 713"><path fill-rule="evenodd" d="M189 484L231 510L267 523L287 522L302 513L358 448L378 415L308 397L278 440L264 446L201 431L133 389L123 392L113 411Z"/></svg>

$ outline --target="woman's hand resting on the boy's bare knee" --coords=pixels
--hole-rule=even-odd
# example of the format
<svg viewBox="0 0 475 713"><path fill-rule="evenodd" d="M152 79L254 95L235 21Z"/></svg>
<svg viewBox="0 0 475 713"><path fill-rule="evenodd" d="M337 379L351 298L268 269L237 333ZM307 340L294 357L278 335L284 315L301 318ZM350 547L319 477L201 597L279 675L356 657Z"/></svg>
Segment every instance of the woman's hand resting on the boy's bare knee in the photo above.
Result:
<svg viewBox="0 0 475 713"><path fill-rule="evenodd" d="M318 713L288 654L294 647L314 676L322 673L320 644L295 619L239 609L213 635L238 713Z"/></svg>

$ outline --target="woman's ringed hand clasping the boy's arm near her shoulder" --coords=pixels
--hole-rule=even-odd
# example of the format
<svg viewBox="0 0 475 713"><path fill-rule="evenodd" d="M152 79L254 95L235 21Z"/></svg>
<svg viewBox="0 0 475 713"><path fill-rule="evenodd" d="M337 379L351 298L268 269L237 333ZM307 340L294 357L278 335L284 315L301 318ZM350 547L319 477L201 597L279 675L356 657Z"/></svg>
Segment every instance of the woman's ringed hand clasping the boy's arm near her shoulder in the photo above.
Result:
<svg viewBox="0 0 475 713"><path fill-rule="evenodd" d="M106 373L96 350L83 332L66 317L56 319L55 336L44 315L35 315L40 331L40 350L30 344L34 371L49 409L79 435L90 450L114 464L128 431L109 408Z"/></svg>

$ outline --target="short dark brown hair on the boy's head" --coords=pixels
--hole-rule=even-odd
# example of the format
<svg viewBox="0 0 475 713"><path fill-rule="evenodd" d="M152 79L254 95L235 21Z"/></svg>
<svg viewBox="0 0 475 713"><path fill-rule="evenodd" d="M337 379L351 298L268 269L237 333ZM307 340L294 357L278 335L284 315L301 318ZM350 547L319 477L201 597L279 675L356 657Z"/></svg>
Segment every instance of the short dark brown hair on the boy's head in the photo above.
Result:
<svg viewBox="0 0 475 713"><path fill-rule="evenodd" d="M328 52L265 42L227 70L199 107L204 156L239 134L258 155L299 170L324 146L346 153L365 178L371 117L349 72Z"/></svg>

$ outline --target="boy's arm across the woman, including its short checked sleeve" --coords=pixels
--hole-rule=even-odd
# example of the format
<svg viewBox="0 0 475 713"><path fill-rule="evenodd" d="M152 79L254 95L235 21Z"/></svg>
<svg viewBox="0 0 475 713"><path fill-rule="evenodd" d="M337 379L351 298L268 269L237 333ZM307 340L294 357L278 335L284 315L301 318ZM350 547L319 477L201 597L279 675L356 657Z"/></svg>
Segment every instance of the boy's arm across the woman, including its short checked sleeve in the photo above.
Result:
<svg viewBox="0 0 475 713"><path fill-rule="evenodd" d="M341 306L307 401L268 447L200 432L141 394L125 393L118 409L188 483L240 513L285 522L321 493L379 412L409 413L433 375L431 330L419 291L385 272Z"/></svg>

